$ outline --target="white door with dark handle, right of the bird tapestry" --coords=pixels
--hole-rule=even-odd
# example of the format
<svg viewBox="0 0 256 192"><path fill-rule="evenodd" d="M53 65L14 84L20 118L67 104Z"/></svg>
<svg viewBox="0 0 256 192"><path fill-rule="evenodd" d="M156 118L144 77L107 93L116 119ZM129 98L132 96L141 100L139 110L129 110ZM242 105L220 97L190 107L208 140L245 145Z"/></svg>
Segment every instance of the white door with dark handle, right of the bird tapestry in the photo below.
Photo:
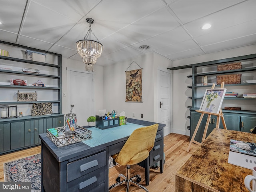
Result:
<svg viewBox="0 0 256 192"><path fill-rule="evenodd" d="M164 136L171 133L171 74L158 70L158 122L163 123Z"/></svg>

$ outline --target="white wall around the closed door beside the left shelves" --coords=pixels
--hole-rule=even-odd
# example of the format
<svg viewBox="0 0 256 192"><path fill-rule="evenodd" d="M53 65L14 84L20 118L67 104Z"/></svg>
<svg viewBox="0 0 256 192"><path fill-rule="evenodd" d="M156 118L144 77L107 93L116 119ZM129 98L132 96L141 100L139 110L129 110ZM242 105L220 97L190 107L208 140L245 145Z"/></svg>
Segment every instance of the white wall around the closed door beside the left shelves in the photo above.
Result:
<svg viewBox="0 0 256 192"><path fill-rule="evenodd" d="M71 60L62 58L62 114L67 114L69 111L67 110L67 96L63 96L63 93L67 93L67 68L72 68L76 71L85 72L84 71L85 64L81 61ZM103 87L103 67L98 66L97 64L93 67L93 114L98 114L99 109L103 107L103 95L104 95L104 87ZM88 72L90 73L90 72ZM81 101L82 102L82 101ZM86 110L86 109L85 109Z"/></svg>

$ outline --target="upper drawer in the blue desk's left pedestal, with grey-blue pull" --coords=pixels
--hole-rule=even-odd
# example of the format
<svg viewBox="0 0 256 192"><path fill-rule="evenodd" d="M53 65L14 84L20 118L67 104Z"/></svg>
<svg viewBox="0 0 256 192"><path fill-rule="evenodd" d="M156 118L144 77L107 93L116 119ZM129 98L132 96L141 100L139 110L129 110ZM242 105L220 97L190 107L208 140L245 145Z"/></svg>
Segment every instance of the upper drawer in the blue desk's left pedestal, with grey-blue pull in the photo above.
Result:
<svg viewBox="0 0 256 192"><path fill-rule="evenodd" d="M67 182L106 165L106 151L67 164Z"/></svg>

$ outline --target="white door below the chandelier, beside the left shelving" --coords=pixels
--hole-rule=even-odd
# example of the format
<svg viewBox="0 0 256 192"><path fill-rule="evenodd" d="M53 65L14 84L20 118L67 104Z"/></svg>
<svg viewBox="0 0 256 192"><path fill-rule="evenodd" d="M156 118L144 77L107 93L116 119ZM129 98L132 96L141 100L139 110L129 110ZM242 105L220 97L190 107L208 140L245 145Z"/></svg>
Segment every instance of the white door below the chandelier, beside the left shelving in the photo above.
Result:
<svg viewBox="0 0 256 192"><path fill-rule="evenodd" d="M77 125L86 126L87 118L93 115L93 74L70 71L68 79L68 112L74 105L72 112L77 116Z"/></svg>

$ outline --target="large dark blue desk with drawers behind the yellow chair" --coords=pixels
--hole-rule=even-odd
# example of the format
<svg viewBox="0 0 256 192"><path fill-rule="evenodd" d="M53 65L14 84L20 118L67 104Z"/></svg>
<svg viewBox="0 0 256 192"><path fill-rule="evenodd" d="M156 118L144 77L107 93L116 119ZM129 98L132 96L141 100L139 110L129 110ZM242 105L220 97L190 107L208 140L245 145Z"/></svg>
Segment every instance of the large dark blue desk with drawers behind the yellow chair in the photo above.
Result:
<svg viewBox="0 0 256 192"><path fill-rule="evenodd" d="M95 132L92 133L95 136L94 139L101 138L92 142L92 144L96 144L95 146L86 144L86 142L90 142L88 140L85 143L79 142L57 148L45 133L40 134L39 137L42 141L42 192L108 192L108 156L121 150L130 136L127 133L132 132L130 127L132 124L135 124L134 128L155 124L130 118L128 122L128 125L101 131L98 128L96 130L96 128L86 127L94 129ZM155 146L150 151L150 156L139 164L145 168L146 185L149 184L149 168L156 162L160 161L160 172L163 172L164 126L165 124L159 124ZM102 133L110 134L111 129L115 130L116 138L103 139L107 135L104 136ZM124 133L121 131L122 129L126 130L126 136L120 135L120 133ZM110 138L109 135L108 138Z"/></svg>

